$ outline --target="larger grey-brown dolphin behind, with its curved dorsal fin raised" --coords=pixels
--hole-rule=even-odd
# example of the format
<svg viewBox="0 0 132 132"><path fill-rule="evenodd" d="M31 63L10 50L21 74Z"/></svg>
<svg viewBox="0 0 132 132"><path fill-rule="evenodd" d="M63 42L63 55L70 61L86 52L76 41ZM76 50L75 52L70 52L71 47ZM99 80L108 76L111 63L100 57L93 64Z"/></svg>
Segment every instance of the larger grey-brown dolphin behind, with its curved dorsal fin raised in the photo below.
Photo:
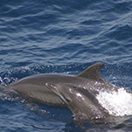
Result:
<svg viewBox="0 0 132 132"><path fill-rule="evenodd" d="M77 87L87 89L89 92L97 94L100 90L111 91L118 89L117 86L105 81L100 74L104 63L96 63L79 75L61 74L41 74L23 78L7 87L17 91L25 97L30 97L33 101L40 103L65 106L65 103L49 88L46 83L71 83Z"/></svg>

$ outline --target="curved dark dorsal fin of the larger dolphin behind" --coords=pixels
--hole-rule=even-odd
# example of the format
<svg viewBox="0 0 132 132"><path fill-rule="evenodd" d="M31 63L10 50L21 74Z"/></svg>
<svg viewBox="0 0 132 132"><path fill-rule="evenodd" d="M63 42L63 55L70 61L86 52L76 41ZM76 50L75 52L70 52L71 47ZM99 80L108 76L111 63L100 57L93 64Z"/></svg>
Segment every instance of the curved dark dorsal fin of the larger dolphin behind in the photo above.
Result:
<svg viewBox="0 0 132 132"><path fill-rule="evenodd" d="M103 66L104 66L104 63L96 63L88 67L86 70L84 70L82 73L78 74L77 76L83 77L83 78L89 78L89 79L97 80L97 81L103 81L103 78L100 73L100 70Z"/></svg>

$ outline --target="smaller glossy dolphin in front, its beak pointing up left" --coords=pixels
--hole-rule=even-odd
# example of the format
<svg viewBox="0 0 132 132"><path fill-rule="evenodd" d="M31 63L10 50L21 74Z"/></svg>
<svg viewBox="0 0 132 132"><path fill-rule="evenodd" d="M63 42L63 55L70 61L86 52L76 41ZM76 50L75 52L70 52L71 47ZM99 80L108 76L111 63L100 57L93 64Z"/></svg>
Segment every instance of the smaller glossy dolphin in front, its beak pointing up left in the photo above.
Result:
<svg viewBox="0 0 132 132"><path fill-rule="evenodd" d="M69 107L77 122L105 118L104 109L95 95L84 88L65 83L46 83Z"/></svg>

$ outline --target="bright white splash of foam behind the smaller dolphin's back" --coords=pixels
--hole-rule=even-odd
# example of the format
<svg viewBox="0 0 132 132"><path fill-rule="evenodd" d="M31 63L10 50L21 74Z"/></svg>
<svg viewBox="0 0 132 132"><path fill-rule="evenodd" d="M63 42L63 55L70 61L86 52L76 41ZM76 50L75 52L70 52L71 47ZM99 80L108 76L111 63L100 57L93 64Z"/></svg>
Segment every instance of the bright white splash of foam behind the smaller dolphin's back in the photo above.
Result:
<svg viewBox="0 0 132 132"><path fill-rule="evenodd" d="M97 95L97 99L113 116L132 115L132 94L124 88L111 93L102 91Z"/></svg>

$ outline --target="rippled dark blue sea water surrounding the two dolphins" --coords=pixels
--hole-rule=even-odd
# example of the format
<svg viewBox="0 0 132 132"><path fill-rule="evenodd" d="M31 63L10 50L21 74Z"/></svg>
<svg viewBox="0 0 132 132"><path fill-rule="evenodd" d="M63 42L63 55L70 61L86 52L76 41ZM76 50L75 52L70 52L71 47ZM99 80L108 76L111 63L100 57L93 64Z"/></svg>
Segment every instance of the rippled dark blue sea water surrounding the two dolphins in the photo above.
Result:
<svg viewBox="0 0 132 132"><path fill-rule="evenodd" d="M102 76L132 91L131 0L1 0L0 84L29 75L76 75L104 62ZM29 103L0 90L0 132L132 131L132 117L114 128L74 123L67 108Z"/></svg>

